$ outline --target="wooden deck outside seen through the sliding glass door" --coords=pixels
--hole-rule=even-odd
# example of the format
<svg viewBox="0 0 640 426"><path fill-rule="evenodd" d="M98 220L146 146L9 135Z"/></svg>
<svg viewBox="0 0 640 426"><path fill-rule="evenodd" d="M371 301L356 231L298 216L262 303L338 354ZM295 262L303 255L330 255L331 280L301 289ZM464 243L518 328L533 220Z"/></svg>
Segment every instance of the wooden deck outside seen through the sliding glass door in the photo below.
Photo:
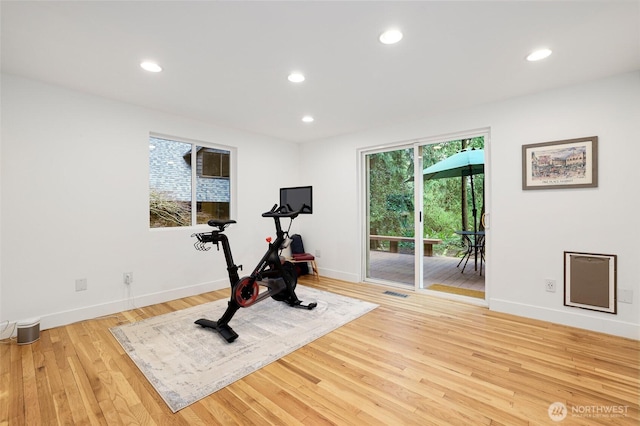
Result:
<svg viewBox="0 0 640 426"><path fill-rule="evenodd" d="M385 251L369 251L368 278L374 280L390 281L407 286L414 286L414 262L412 254L390 253ZM474 270L473 258L469 260L467 267L462 271L456 267L459 258L433 256L424 257L424 287L432 284L443 284L450 287L460 287L471 290L484 291L484 265L482 275Z"/></svg>

